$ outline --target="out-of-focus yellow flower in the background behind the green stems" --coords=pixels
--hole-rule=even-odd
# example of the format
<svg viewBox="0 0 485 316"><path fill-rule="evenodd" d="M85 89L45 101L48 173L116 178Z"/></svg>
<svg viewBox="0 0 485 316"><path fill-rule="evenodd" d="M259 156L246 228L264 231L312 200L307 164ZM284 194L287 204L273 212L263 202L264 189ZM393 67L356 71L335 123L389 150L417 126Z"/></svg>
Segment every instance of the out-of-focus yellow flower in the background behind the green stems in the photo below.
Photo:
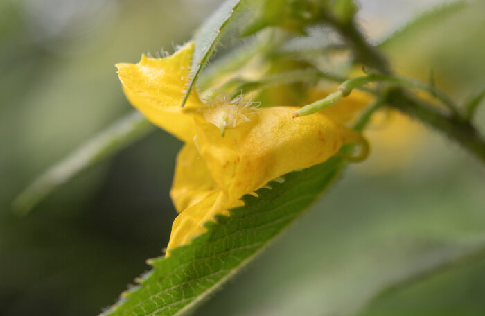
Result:
<svg viewBox="0 0 485 316"><path fill-rule="evenodd" d="M364 76L362 71L354 71L353 77ZM264 103L277 103L279 105L296 105L302 107L317 100L321 100L333 91L337 85L316 85L299 89L295 85L270 87L263 90L257 100ZM302 91L303 90L303 91ZM428 98L428 96L421 96ZM355 119L360 110L371 102L368 94L352 91L337 105L327 107L322 114L331 117L334 121L348 123ZM373 114L365 136L372 144L372 152L366 161L359 164L355 170L366 175L395 173L403 170L416 156L422 141L423 126L398 112L396 109L383 108Z"/></svg>

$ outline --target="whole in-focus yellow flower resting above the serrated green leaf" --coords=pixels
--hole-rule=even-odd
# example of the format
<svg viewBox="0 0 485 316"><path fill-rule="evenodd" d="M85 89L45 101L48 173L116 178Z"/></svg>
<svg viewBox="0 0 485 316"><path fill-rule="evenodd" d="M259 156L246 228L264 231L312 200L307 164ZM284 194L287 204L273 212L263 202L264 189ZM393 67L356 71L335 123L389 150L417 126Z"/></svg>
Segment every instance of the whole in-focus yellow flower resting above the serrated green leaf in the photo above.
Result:
<svg viewBox="0 0 485 316"><path fill-rule="evenodd" d="M346 143L367 148L360 133L330 116L292 119L297 107L258 108L243 97L225 96L204 103L193 91L182 109L193 49L189 43L167 58L143 55L138 64L116 65L130 103L185 142L170 192L180 214L167 255L270 180L326 161Z"/></svg>

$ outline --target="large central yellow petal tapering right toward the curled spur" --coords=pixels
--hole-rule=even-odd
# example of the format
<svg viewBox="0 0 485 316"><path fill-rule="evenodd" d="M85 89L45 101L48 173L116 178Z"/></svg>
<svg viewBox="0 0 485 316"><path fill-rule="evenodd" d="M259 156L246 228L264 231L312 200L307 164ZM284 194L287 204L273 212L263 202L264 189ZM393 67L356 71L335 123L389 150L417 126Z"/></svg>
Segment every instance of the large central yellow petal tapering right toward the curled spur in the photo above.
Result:
<svg viewBox="0 0 485 316"><path fill-rule="evenodd" d="M200 155L229 202L280 175L326 161L346 143L367 146L360 133L323 114L292 119L296 109L259 109L224 137L203 116L195 118Z"/></svg>

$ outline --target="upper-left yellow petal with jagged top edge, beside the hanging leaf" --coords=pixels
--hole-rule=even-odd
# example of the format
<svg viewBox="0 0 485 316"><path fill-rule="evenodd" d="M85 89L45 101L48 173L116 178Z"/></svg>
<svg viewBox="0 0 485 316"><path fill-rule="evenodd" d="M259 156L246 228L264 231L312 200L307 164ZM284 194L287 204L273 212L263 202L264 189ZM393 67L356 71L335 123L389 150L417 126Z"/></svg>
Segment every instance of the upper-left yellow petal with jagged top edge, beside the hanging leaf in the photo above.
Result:
<svg viewBox="0 0 485 316"><path fill-rule="evenodd" d="M182 99L190 80L194 44L188 43L166 58L141 56L138 64L116 64L130 103L155 125L182 141L194 136L193 119L182 114ZM193 90L185 107L202 105Z"/></svg>

